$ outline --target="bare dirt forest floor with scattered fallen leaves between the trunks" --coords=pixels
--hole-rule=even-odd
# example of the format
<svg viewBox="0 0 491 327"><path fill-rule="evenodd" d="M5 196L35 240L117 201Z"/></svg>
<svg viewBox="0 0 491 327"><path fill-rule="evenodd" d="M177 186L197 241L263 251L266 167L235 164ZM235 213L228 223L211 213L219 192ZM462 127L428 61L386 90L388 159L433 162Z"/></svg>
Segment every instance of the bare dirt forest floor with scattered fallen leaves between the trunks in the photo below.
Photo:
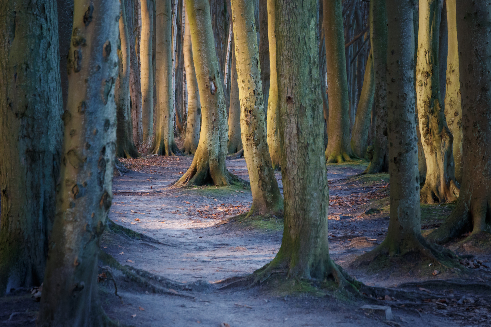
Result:
<svg viewBox="0 0 491 327"><path fill-rule="evenodd" d="M459 240L445 245L459 253L458 270L351 268L358 255L382 242L389 222L388 174L360 175L368 164L364 160L328 165L329 247L337 264L374 286L374 297L347 297L280 277L252 288L226 287L273 259L283 220L237 218L252 201L247 186L169 188L191 161L183 156L121 160L130 171L114 177L109 212L114 224L101 243L121 265L101 263L101 299L113 320L152 327L491 326L491 255L457 248ZM227 160L227 168L248 180L243 158ZM276 177L282 191L280 172ZM422 229L441 224L454 205L422 204ZM435 270L441 273L434 275ZM121 300L105 279L110 275ZM417 300L405 301L404 291ZM360 309L366 304L390 306L393 318ZM0 325L34 326L37 307L27 290L4 296Z"/></svg>

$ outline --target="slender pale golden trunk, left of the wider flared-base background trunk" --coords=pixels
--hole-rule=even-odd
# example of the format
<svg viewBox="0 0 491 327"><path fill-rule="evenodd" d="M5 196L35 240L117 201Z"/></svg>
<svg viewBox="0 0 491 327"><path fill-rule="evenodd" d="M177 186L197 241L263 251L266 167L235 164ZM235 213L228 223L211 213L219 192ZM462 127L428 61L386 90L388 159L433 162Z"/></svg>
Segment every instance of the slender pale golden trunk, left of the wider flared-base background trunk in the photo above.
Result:
<svg viewBox="0 0 491 327"><path fill-rule="evenodd" d="M152 39L153 39L153 4L152 0L141 0L141 116L143 142L148 143L153 136L153 69L152 69Z"/></svg>

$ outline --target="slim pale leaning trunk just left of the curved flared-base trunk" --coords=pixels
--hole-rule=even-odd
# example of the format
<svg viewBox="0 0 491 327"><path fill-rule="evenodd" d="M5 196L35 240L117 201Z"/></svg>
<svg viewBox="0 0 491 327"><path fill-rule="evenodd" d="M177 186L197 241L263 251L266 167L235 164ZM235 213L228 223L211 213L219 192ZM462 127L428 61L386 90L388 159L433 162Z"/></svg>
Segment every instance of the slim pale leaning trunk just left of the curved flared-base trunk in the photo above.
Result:
<svg viewBox="0 0 491 327"><path fill-rule="evenodd" d="M186 3L186 1L184 2ZM186 5L184 6L186 7ZM201 105L199 103L198 81L192 59L191 31L189 28L188 13L185 13L183 57L186 67L186 81L188 85L188 122L186 123L186 139L184 140L184 154L194 154L199 143L199 129L201 126Z"/></svg>

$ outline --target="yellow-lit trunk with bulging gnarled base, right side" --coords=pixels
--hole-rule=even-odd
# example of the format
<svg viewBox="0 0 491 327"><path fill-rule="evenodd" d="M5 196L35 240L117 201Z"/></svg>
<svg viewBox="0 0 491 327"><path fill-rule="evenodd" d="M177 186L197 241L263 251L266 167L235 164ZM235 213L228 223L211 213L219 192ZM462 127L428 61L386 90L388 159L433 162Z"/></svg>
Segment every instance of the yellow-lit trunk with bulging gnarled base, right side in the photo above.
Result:
<svg viewBox="0 0 491 327"><path fill-rule="evenodd" d="M421 201L457 199L452 155L453 136L441 105L438 74L438 39L441 0L419 1L416 96L419 131L426 158L426 180Z"/></svg>

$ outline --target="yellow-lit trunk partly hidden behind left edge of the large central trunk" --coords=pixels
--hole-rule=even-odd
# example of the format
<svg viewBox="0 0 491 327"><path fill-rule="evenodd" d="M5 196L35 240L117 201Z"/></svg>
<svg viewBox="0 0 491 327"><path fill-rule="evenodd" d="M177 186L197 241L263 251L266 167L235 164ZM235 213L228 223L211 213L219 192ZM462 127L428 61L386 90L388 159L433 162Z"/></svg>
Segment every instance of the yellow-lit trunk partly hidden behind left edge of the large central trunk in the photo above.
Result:
<svg viewBox="0 0 491 327"><path fill-rule="evenodd" d="M268 115L267 115L267 138L270 150L271 163L273 169L279 168L280 162L280 141L279 141L279 107L278 107L278 80L276 72L276 17L275 0L267 0L268 3L268 40L270 44L270 91L268 95Z"/></svg>

